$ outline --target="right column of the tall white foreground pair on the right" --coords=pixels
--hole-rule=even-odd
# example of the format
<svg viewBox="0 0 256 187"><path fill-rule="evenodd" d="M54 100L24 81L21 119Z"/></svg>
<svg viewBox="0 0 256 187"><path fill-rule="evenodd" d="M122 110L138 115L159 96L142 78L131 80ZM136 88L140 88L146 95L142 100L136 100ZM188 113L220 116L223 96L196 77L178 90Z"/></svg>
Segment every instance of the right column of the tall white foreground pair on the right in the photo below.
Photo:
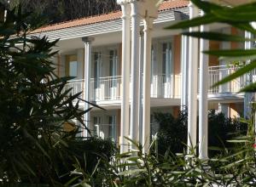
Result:
<svg viewBox="0 0 256 187"><path fill-rule="evenodd" d="M203 15L203 13L202 13ZM201 31L208 31L209 26L201 26ZM200 77L199 77L199 158L208 158L208 55L209 41L200 39Z"/></svg>

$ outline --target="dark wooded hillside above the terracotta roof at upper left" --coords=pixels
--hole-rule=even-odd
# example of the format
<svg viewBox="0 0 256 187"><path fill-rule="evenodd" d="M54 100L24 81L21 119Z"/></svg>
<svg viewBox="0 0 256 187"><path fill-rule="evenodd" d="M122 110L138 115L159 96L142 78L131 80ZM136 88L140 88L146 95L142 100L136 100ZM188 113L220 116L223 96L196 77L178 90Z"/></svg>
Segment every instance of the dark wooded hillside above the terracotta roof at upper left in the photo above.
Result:
<svg viewBox="0 0 256 187"><path fill-rule="evenodd" d="M48 24L108 14L119 9L116 0L11 0L10 7L19 3L26 12L44 16Z"/></svg>

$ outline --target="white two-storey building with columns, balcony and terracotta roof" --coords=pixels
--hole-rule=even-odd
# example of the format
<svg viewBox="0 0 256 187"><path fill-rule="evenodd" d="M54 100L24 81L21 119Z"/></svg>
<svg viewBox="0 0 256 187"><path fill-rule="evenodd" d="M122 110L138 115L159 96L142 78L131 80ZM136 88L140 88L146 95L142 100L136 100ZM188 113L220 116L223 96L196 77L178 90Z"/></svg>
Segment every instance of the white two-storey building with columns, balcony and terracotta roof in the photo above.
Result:
<svg viewBox="0 0 256 187"><path fill-rule="evenodd" d="M198 10L184 0L166 1L159 7L155 2L121 0L122 11L46 26L33 32L38 37L46 35L50 40L60 38L56 74L76 77L68 83L73 94L82 91L81 97L107 110L94 108L84 116L91 131L103 139L125 144L122 137L130 136L146 143L147 148L150 128L151 131L155 128L149 125L154 111L177 115L181 105L187 105L192 124L197 108L222 111L231 117L243 115L244 107L247 108L245 94L237 94L247 83L245 78L211 88L237 67L212 56L198 55L202 48L244 48L244 45L199 43L182 37L181 31L165 30L177 21L197 16ZM205 29L244 35L235 28L218 24ZM201 73L204 76L201 84L197 81L201 77L200 61L206 61L201 67L207 70ZM208 81L207 99L200 94L204 90L200 85L207 85L205 80ZM196 98L203 99L199 107ZM80 105L81 109L88 107L83 102ZM201 117L203 122L206 116ZM192 124L190 130L195 131L193 128ZM202 128L200 132L204 136L207 128ZM126 146L121 148L126 150Z"/></svg>

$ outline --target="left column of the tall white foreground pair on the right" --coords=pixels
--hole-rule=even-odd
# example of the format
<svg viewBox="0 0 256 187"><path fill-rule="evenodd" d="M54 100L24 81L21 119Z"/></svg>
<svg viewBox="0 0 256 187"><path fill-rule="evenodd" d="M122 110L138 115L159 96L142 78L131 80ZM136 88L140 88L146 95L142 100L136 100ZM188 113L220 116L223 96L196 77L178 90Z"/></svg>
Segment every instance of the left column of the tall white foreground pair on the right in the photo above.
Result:
<svg viewBox="0 0 256 187"><path fill-rule="evenodd" d="M198 8L189 3L190 19L198 16ZM198 31L198 28L189 28ZM189 105L188 105L188 153L196 145L196 115L197 115L197 74L198 74L198 39L189 37Z"/></svg>

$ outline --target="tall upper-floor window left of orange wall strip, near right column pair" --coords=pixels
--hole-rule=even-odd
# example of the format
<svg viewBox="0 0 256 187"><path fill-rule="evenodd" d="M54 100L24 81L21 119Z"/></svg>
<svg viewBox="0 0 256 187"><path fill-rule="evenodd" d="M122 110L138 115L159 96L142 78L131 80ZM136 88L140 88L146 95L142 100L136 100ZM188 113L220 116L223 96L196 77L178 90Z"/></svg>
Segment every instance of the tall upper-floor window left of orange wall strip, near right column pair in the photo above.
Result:
<svg viewBox="0 0 256 187"><path fill-rule="evenodd" d="M171 81L172 72L172 43L164 42L162 44L162 74L164 82Z"/></svg>

